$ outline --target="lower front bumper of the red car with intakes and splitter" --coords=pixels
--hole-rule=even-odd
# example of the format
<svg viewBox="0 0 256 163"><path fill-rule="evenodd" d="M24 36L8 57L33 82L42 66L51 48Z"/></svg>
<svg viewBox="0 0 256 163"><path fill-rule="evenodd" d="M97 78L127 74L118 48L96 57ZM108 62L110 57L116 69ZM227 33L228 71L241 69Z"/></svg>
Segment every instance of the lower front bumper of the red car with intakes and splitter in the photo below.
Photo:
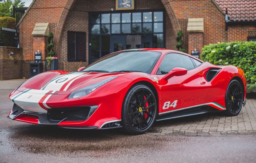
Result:
<svg viewBox="0 0 256 163"><path fill-rule="evenodd" d="M52 112L47 113L36 113L31 111L25 111L22 108L20 108L18 105L14 103L12 111L10 112L9 116L7 118L10 118L12 120L18 120L21 122L27 122L32 124L39 124L39 125L47 125L47 126L56 126L61 128L69 128L69 129L106 129L106 128L119 128L122 127L119 122L113 123L111 126L69 126L69 125L61 125L62 122L74 122L74 123L81 123L83 121L86 121L91 117L91 115L96 111L98 108L97 105L93 106L83 106L79 107L82 108L80 110L87 109L88 111L83 114L76 114L74 110L77 107L70 107L70 108L54 108ZM59 110L58 112L55 112L55 110ZM66 113L65 113L66 110ZM69 111L67 113L67 111ZM71 112L70 112L71 111ZM70 114L71 113L71 114ZM84 114L85 113L85 114ZM81 120L81 118L84 118ZM80 121L75 121L80 119Z"/></svg>

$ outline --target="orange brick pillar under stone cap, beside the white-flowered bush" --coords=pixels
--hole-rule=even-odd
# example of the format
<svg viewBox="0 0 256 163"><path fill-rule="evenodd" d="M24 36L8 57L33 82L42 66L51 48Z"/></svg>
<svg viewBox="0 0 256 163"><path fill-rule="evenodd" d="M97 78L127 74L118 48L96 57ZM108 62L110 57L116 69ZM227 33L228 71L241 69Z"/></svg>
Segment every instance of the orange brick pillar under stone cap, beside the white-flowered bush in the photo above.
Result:
<svg viewBox="0 0 256 163"><path fill-rule="evenodd" d="M203 33L188 33L188 54L191 54L191 50L199 50L202 54L203 48Z"/></svg>

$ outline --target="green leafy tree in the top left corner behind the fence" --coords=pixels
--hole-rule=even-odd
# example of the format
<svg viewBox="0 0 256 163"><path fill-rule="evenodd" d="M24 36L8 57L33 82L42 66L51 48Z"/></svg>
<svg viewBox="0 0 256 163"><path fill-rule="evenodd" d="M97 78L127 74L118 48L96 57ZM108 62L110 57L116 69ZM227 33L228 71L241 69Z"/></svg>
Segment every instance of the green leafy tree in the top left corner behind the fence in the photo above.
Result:
<svg viewBox="0 0 256 163"><path fill-rule="evenodd" d="M2 16L12 16L13 6L15 7L24 7L25 2L21 0L0 0L0 17Z"/></svg>

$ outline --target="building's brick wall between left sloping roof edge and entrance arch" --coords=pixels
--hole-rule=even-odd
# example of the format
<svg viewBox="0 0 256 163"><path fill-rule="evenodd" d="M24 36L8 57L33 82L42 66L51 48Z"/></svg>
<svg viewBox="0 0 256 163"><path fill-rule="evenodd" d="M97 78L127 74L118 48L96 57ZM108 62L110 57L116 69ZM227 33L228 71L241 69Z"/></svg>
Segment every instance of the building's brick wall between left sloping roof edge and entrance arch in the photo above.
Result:
<svg viewBox="0 0 256 163"><path fill-rule="evenodd" d="M24 60L33 60L32 31L36 23L49 23L49 31L54 32L67 0L35 0L19 25L20 47Z"/></svg>

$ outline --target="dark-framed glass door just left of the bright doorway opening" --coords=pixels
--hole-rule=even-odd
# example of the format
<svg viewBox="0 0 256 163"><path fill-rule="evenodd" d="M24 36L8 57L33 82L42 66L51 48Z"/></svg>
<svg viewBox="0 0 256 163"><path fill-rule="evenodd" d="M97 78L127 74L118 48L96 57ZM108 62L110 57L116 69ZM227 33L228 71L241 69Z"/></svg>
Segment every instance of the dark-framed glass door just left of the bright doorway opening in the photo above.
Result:
<svg viewBox="0 0 256 163"><path fill-rule="evenodd" d="M110 53L126 49L125 35L112 35L110 37Z"/></svg>

